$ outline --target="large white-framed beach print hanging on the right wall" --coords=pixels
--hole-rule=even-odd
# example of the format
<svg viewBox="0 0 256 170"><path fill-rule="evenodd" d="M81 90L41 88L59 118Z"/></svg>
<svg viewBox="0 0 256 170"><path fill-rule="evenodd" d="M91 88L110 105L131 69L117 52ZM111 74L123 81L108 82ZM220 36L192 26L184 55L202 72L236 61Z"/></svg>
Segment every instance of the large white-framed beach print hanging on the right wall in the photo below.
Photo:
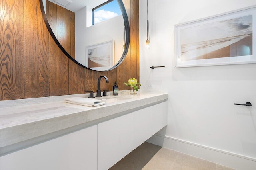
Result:
<svg viewBox="0 0 256 170"><path fill-rule="evenodd" d="M175 25L175 38L176 68L256 63L256 7Z"/></svg>

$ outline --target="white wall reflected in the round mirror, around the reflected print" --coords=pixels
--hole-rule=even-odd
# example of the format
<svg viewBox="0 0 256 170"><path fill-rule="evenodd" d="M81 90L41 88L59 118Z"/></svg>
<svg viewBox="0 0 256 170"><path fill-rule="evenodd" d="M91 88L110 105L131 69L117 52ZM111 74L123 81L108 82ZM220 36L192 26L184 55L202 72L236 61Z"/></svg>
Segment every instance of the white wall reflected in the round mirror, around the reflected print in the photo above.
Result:
<svg viewBox="0 0 256 170"><path fill-rule="evenodd" d="M91 9L89 8L89 10ZM75 13L76 61L83 65L86 65L86 46L114 40L114 63L116 64L123 54L123 16L120 15L109 20L102 21L90 27L87 27L87 11L88 7L84 7ZM91 14L91 11L89 13Z"/></svg>

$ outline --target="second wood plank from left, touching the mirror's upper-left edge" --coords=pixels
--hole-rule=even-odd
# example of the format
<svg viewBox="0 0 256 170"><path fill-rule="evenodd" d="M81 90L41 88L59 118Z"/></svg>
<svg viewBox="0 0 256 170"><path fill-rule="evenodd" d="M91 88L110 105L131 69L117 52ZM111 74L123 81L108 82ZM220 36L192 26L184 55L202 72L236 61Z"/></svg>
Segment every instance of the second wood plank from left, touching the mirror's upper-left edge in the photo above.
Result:
<svg viewBox="0 0 256 170"><path fill-rule="evenodd" d="M32 2L24 0L25 98L49 96L49 33L39 1Z"/></svg>

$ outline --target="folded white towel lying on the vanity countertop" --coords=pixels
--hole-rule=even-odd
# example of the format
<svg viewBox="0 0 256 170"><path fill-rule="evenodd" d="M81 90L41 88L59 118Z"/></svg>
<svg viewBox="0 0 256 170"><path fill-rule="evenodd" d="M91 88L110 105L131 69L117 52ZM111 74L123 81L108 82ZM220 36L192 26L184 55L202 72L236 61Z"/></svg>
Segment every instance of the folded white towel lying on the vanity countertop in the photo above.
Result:
<svg viewBox="0 0 256 170"><path fill-rule="evenodd" d="M98 100L98 99L91 99L91 98L73 97L73 98L65 98L64 102L92 107L92 106L100 106L100 105L106 104L107 100L106 99Z"/></svg>

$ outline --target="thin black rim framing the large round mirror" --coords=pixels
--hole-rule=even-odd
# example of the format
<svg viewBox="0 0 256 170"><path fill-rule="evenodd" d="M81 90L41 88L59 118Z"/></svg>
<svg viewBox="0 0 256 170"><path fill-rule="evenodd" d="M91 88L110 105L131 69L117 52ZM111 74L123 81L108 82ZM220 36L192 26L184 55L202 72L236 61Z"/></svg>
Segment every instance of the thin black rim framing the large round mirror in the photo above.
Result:
<svg viewBox="0 0 256 170"><path fill-rule="evenodd" d="M70 59L72 60L74 63L78 64L79 66L83 67L83 68L86 68L88 70L92 70L84 65L82 65L81 63L79 63L78 61L76 61L65 49L64 47L62 47L62 45L60 44L60 42L58 41L58 39L56 38L56 36L54 35L53 31L52 31L52 28L50 27L50 24L48 23L48 20L47 20L47 17L46 17L46 13L44 11L44 5L43 5L43 1L42 0L39 0L40 1L40 8L41 8L41 12L42 12L42 16L43 16L43 19L44 19L44 23L46 24L46 27L50 33L50 35L52 36L52 38L54 39L55 43L58 45L58 47L61 49L61 51ZM126 13L126 10L125 10L125 7L124 7L124 4L122 2L122 0L117 0L120 8L121 8L121 12L122 12L122 16L124 18L124 27L125 27L125 31L126 31L126 34L125 34L125 48L124 48L124 52L120 58L120 60L110 69L108 70L104 70L104 71L109 71L109 70L112 70L114 68L116 68L117 66L119 66L123 61L124 61L124 58L125 56L127 55L128 53L128 49L129 49L129 45L130 45L130 26L129 26L129 20L128 20L128 16L127 16L127 13ZM94 70L96 71L96 70Z"/></svg>

